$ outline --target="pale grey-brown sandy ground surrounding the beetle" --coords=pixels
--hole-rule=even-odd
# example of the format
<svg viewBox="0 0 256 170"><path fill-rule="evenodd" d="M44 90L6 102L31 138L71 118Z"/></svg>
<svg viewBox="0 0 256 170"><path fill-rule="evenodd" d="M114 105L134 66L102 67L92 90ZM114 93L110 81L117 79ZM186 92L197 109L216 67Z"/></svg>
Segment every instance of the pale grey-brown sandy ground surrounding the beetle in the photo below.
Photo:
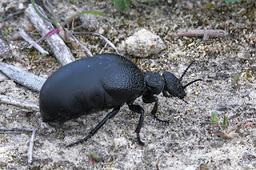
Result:
<svg viewBox="0 0 256 170"><path fill-rule="evenodd" d="M77 120L55 124L55 132L40 130L40 114L11 105L0 105L0 126L8 128L37 128L34 140L33 162L27 164L30 133L0 134L1 169L254 169L256 168L255 126L242 128L239 136L226 139L213 136L216 129L206 124L211 112L216 111L222 121L226 115L230 127L255 118L255 39L256 2L253 0L226 3L218 1L170 1L140 3L133 1L130 10L119 12L108 1L54 1L58 18L65 18L82 10L98 10L107 14L99 19L98 32L118 46L122 54L134 61L142 70L162 73L170 71L182 75L190 61L196 63L183 78L183 84L202 78L186 89L186 104L178 98L158 95L158 116L170 121L170 125L154 120L150 115L153 104L135 102L145 109L145 121L141 130L145 146L136 140L135 128L139 114L132 113L124 105L116 117L106 123L96 135L83 144L66 148L75 140L86 136L110 111L102 111L80 117ZM26 1L0 2L1 14L6 16L25 9ZM76 24L76 23L75 23ZM79 24L79 21L78 23ZM175 35L180 28L222 29L226 38L180 38ZM24 14L6 22L8 38L22 27L34 39L40 38ZM149 58L132 58L122 49L123 41L136 31L150 30L162 38L166 47ZM5 35L2 35L4 38ZM86 42L93 54L104 47L98 37L78 37ZM10 42L11 55L4 62L48 77L60 65L52 53L40 57L36 49L21 39ZM46 42L41 45L49 49ZM87 57L82 49L69 45L76 58ZM104 52L113 52L108 46ZM235 85L234 75L239 75ZM14 81L0 82L0 93L26 101L38 101L38 93L26 89ZM231 133L229 134L231 135ZM91 164L86 156L94 152L100 159Z"/></svg>

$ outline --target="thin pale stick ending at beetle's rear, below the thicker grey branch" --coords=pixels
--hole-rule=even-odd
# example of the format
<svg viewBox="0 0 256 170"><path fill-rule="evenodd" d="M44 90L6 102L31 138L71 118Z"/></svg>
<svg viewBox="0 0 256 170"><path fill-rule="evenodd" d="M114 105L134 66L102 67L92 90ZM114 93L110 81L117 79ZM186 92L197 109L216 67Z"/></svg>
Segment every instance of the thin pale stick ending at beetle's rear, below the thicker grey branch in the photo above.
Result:
<svg viewBox="0 0 256 170"><path fill-rule="evenodd" d="M12 97L7 97L2 94L0 94L0 103L18 106L20 108L30 109L36 112L40 110L37 103L31 102L31 101L23 101L23 100L12 98Z"/></svg>

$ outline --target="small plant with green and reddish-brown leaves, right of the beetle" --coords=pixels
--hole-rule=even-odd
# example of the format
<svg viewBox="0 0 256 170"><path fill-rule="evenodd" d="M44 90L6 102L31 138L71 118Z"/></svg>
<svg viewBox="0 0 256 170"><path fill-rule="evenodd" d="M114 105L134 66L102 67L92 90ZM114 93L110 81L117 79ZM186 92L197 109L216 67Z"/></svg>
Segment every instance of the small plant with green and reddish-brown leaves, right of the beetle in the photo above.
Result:
<svg viewBox="0 0 256 170"><path fill-rule="evenodd" d="M231 125L230 121L227 120L226 116L223 116L223 121L220 121L217 117L217 112L211 113L211 121L206 121L206 124L212 125L212 128L218 128L216 132L214 132L214 136L222 136L229 139L233 139L234 137L239 137L239 130L245 126L253 125L256 122L248 122L246 121L255 121L256 118L248 119L246 121L242 121L238 123L238 125Z"/></svg>

